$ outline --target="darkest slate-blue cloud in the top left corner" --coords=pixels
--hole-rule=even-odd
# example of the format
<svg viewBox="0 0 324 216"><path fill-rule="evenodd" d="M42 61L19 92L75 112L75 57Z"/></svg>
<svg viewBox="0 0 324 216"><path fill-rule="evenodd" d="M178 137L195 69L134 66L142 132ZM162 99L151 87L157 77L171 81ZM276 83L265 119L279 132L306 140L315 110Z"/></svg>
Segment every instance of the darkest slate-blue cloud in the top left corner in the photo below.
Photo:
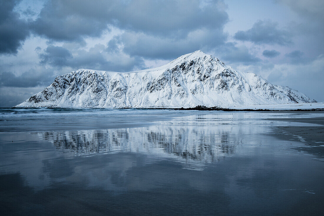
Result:
<svg viewBox="0 0 324 216"><path fill-rule="evenodd" d="M29 36L29 25L26 20L13 11L19 1L0 1L0 54L16 54L21 43Z"/></svg>

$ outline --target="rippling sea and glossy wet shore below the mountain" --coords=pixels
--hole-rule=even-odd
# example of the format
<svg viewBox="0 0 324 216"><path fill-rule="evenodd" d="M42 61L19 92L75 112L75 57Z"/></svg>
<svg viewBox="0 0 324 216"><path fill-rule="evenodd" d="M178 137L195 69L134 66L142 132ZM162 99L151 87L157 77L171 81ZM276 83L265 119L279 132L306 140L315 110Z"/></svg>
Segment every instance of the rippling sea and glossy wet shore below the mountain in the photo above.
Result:
<svg viewBox="0 0 324 216"><path fill-rule="evenodd" d="M320 215L323 117L1 108L0 212Z"/></svg>

